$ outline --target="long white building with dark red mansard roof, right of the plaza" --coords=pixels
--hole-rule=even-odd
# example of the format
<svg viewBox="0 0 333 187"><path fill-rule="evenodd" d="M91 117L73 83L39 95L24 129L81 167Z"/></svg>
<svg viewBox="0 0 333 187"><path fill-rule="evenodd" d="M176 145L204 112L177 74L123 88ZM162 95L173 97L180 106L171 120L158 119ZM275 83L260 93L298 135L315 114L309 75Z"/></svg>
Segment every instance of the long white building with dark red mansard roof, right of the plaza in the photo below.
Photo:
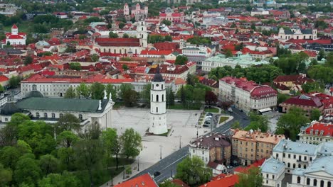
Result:
<svg viewBox="0 0 333 187"><path fill-rule="evenodd" d="M218 90L221 101L232 101L237 108L246 112L273 108L277 103L275 89L253 81L223 77L219 80Z"/></svg>

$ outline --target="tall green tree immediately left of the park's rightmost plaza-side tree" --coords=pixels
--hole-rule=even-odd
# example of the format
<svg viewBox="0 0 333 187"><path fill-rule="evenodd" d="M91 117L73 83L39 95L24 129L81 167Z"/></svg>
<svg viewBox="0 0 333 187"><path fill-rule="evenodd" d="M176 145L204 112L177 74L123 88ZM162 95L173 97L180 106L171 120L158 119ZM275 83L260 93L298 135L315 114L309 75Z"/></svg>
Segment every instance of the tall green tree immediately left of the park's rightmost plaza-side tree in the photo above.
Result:
<svg viewBox="0 0 333 187"><path fill-rule="evenodd" d="M122 141L117 135L117 129L107 128L106 130L102 131L101 140L103 146L106 149L107 157L112 157L112 155L115 155L116 169L118 169L118 158L122 150Z"/></svg>

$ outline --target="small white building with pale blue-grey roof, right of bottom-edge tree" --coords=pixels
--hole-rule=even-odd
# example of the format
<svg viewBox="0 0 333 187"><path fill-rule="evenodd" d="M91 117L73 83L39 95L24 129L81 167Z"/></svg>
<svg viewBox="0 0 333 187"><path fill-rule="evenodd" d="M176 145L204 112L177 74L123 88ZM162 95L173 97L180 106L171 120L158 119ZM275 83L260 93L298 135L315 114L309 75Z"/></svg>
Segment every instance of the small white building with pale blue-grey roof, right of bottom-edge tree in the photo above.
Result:
<svg viewBox="0 0 333 187"><path fill-rule="evenodd" d="M285 164L273 157L266 159L261 166L263 186L281 187L285 178Z"/></svg>

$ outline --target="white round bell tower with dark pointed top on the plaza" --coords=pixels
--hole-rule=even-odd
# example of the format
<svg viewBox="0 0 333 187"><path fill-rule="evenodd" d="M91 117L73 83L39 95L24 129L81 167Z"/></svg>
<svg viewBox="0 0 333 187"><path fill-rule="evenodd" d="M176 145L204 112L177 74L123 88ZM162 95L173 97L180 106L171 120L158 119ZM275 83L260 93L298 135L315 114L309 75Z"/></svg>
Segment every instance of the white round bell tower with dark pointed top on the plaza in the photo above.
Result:
<svg viewBox="0 0 333 187"><path fill-rule="evenodd" d="M149 132L160 135L168 132L166 126L166 91L165 81L159 74L159 67L152 79L150 90L150 124Z"/></svg>

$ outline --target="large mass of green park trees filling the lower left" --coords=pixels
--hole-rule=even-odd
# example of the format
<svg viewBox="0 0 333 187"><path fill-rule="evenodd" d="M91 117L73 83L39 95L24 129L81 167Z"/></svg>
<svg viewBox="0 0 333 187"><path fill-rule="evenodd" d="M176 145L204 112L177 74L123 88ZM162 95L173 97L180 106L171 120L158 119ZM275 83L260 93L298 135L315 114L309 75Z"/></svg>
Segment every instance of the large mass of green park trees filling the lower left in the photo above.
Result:
<svg viewBox="0 0 333 187"><path fill-rule="evenodd" d="M142 149L133 129L119 136L98 124L83 128L71 114L51 125L16 113L0 130L0 145L0 186L99 185L115 173L120 155L134 158Z"/></svg>

